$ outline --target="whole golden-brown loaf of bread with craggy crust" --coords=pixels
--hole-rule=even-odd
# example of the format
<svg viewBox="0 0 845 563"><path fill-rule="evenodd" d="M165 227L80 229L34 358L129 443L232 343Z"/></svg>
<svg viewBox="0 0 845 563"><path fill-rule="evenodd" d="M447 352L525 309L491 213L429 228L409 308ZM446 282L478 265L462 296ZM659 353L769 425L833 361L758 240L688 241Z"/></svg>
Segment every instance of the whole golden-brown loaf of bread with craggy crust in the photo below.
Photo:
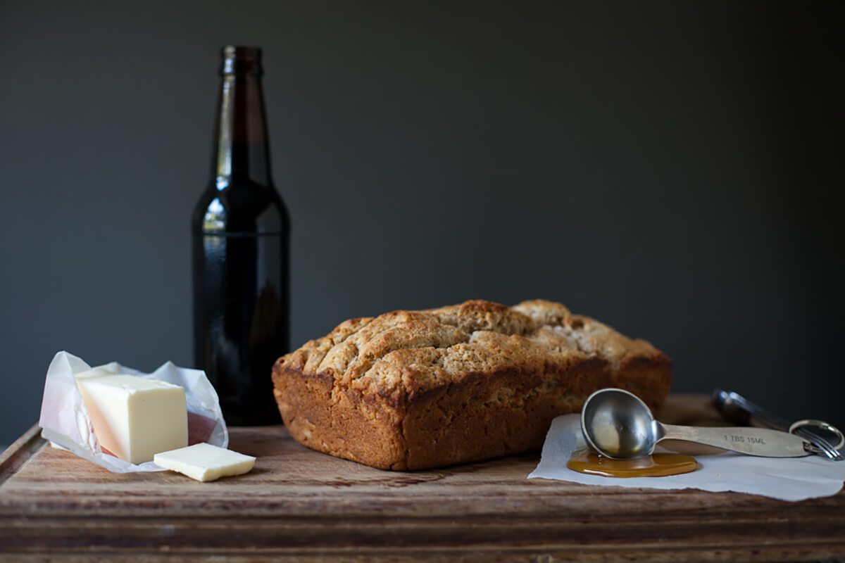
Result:
<svg viewBox="0 0 845 563"><path fill-rule="evenodd" d="M591 392L621 387L657 409L671 382L671 361L645 340L545 300L354 318L273 368L297 441L395 470L535 450Z"/></svg>

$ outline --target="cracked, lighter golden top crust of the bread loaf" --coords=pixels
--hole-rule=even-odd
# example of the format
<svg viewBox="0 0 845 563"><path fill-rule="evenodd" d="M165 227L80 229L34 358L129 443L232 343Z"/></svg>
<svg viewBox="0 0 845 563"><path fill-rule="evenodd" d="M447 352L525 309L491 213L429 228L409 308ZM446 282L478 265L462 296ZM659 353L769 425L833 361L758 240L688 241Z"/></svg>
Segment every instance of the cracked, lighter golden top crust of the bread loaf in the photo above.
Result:
<svg viewBox="0 0 845 563"><path fill-rule="evenodd" d="M631 359L668 361L645 340L627 338L553 301L509 307L469 300L341 322L324 338L282 356L276 369L331 377L335 390L412 398L472 374L542 371L596 357L612 371Z"/></svg>

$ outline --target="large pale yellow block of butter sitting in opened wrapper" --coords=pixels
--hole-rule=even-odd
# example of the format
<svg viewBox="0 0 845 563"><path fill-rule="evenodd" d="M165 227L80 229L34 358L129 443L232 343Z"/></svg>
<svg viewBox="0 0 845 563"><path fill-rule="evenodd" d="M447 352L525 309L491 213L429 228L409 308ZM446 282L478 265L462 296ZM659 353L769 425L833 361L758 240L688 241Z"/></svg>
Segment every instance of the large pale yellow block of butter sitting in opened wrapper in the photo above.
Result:
<svg viewBox="0 0 845 563"><path fill-rule="evenodd" d="M157 379L91 370L76 376L100 446L129 463L188 446L185 390Z"/></svg>

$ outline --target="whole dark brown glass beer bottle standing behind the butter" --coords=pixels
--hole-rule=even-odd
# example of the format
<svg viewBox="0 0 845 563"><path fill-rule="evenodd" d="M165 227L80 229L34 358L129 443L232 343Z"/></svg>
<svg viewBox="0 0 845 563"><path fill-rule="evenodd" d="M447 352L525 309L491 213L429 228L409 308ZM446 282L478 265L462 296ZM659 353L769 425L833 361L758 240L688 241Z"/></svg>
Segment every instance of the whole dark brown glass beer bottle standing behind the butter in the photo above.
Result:
<svg viewBox="0 0 845 563"><path fill-rule="evenodd" d="M226 46L209 186L194 210L194 361L226 422L281 422L270 372L288 347L285 204L270 177L261 50Z"/></svg>

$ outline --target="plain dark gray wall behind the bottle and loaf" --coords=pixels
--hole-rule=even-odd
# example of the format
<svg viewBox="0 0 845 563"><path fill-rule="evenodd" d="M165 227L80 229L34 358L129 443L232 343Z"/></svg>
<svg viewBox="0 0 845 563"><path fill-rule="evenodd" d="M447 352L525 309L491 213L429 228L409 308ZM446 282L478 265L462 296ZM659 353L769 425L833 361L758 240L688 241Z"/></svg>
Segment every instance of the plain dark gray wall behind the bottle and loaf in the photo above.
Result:
<svg viewBox="0 0 845 563"><path fill-rule="evenodd" d="M190 365L225 43L264 47L292 341L559 300L845 424L842 3L0 4L0 442L46 367Z"/></svg>

